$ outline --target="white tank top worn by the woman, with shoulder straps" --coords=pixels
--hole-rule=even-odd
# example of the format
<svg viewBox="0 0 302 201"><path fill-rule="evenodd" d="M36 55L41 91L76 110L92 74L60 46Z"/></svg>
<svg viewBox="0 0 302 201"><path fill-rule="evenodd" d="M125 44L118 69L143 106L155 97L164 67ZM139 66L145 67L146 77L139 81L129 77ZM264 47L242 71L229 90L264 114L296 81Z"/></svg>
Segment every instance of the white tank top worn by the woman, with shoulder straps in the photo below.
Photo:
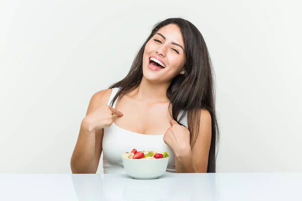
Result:
<svg viewBox="0 0 302 201"><path fill-rule="evenodd" d="M113 88L108 105L118 92L119 88ZM115 108L116 101L113 103ZM181 111L179 117L184 111ZM187 114L181 123L188 128ZM138 151L168 151L170 154L167 172L175 172L175 156L173 151L165 144L164 134L145 135L131 132L118 127L113 123L104 128L103 136L103 169L104 173L125 173L121 159L122 153L130 152L132 149Z"/></svg>

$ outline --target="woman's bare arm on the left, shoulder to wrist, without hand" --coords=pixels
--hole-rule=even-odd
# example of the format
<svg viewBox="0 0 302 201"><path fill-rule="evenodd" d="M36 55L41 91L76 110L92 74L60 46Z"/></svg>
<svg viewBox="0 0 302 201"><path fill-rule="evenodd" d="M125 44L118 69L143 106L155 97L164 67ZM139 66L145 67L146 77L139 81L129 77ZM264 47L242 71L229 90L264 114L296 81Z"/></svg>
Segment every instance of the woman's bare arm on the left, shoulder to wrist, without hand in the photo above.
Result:
<svg viewBox="0 0 302 201"><path fill-rule="evenodd" d="M95 93L90 100L86 117L100 106L107 105L110 94L111 89ZM90 122L86 117L82 121L79 137L71 156L70 167L72 173L96 173L99 166L103 129L95 131L90 128Z"/></svg>

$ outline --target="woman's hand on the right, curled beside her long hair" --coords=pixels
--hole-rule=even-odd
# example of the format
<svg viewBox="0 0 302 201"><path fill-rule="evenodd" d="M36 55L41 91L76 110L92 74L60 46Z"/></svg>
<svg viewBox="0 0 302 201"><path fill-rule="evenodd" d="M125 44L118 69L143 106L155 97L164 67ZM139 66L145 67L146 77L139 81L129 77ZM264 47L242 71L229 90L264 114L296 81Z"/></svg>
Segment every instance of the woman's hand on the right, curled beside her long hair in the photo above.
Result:
<svg viewBox="0 0 302 201"><path fill-rule="evenodd" d="M170 120L170 123L172 126L165 133L164 142L173 150L175 155L191 150L189 130L173 119Z"/></svg>

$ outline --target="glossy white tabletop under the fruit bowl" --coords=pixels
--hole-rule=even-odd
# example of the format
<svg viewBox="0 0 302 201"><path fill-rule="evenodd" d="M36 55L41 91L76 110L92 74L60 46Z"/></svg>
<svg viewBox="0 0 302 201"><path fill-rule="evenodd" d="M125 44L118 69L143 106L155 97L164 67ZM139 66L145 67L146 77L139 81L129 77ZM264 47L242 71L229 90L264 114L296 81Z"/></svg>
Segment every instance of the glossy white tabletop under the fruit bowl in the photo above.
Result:
<svg viewBox="0 0 302 201"><path fill-rule="evenodd" d="M0 174L0 200L302 200L302 173Z"/></svg>

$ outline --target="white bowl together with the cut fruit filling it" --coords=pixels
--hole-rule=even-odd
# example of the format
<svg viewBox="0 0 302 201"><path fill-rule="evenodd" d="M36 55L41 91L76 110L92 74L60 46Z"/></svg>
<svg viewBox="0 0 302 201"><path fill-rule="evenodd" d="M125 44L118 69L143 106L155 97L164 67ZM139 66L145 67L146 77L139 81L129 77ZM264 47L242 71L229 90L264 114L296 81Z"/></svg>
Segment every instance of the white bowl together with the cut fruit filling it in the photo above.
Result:
<svg viewBox="0 0 302 201"><path fill-rule="evenodd" d="M168 167L167 151L137 151L122 154L126 173L134 179L156 179L162 176Z"/></svg>

